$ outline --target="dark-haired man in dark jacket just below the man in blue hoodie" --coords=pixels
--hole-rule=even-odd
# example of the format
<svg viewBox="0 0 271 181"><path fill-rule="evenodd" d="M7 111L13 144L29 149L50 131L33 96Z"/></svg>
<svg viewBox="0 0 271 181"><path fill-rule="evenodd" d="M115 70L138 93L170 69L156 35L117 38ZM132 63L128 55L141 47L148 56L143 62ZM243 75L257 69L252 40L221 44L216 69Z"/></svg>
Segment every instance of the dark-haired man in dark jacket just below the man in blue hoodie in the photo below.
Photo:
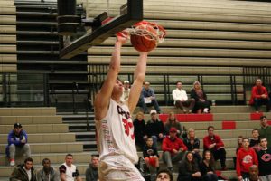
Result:
<svg viewBox="0 0 271 181"><path fill-rule="evenodd" d="M10 181L36 181L36 171L33 168L33 159L27 157L24 164L14 167L14 171L10 176Z"/></svg>

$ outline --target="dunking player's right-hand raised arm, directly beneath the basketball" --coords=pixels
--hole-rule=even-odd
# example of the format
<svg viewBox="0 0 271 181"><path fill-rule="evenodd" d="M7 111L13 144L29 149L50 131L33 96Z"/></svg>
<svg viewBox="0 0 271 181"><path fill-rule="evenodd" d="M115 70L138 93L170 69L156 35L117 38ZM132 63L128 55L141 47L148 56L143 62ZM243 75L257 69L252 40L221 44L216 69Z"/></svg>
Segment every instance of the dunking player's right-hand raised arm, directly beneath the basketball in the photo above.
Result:
<svg viewBox="0 0 271 181"><path fill-rule="evenodd" d="M145 69L146 69L146 61L147 61L148 52L140 52L139 60L137 62L135 72L134 72L134 83L131 87L129 99L128 99L128 107L133 114L137 101L139 99L143 81L145 80Z"/></svg>

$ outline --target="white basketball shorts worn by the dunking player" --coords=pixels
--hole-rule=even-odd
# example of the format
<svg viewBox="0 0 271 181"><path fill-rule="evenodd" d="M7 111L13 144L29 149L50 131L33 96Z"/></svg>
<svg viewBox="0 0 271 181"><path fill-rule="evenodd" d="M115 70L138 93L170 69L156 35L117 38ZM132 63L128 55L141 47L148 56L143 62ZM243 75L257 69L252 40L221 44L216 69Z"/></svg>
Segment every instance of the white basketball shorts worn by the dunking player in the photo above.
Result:
<svg viewBox="0 0 271 181"><path fill-rule="evenodd" d="M100 181L145 181L132 162L123 155L108 156L98 163Z"/></svg>

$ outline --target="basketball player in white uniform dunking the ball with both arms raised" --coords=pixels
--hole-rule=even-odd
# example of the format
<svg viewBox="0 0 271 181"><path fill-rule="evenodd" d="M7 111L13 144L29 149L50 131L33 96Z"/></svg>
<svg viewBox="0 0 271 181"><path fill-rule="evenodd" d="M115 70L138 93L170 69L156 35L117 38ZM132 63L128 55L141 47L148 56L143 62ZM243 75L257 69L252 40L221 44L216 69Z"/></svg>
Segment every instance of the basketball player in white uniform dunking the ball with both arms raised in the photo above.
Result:
<svg viewBox="0 0 271 181"><path fill-rule="evenodd" d="M94 102L100 155L98 174L101 181L145 180L134 166L138 157L131 116L145 79L147 52L140 52L134 73L135 81L130 90L132 96L126 102L121 102L123 84L117 75L120 69L120 49L124 43L126 38L117 36L107 78Z"/></svg>

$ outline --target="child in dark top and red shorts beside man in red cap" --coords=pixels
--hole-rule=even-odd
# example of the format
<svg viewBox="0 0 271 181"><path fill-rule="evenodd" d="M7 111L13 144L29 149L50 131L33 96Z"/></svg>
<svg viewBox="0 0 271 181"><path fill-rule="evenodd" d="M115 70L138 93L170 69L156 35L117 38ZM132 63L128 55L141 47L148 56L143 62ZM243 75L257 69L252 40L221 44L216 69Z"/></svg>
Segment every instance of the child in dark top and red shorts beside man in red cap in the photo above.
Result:
<svg viewBox="0 0 271 181"><path fill-rule="evenodd" d="M145 164L150 172L159 170L159 155L157 148L154 147L153 138L147 138L145 148L143 149Z"/></svg>

